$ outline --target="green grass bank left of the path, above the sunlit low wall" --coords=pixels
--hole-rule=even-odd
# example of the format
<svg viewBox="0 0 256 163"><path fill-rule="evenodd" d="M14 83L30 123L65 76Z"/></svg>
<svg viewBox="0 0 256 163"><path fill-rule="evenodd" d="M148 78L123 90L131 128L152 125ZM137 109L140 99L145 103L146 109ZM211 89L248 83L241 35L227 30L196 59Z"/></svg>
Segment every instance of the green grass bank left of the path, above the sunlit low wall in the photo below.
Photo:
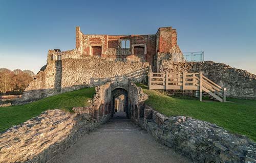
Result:
<svg viewBox="0 0 256 163"><path fill-rule="evenodd" d="M25 105L0 107L0 132L49 109L60 108L71 111L72 107L87 106L88 100L92 99L94 94L95 88L86 88L47 97Z"/></svg>

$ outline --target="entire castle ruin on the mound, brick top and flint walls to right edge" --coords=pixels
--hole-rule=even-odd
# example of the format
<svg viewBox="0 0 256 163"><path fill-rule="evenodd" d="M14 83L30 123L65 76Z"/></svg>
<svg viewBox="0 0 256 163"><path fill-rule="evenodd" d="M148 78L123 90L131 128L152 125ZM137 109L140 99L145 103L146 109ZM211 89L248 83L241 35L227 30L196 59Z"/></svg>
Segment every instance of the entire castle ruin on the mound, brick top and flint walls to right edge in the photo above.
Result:
<svg viewBox="0 0 256 163"><path fill-rule="evenodd" d="M256 76L225 64L186 62L172 27L153 35L85 35L76 27L76 48L49 50L47 65L37 73L19 102L129 79L147 83L148 72L200 72L228 97L256 98Z"/></svg>

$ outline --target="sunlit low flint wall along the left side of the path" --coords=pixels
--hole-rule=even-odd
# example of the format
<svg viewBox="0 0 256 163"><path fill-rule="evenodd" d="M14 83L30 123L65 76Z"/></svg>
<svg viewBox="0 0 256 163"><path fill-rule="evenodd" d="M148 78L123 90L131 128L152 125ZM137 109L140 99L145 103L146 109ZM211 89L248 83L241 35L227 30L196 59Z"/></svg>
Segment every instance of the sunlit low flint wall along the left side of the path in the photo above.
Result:
<svg viewBox="0 0 256 163"><path fill-rule="evenodd" d="M109 118L94 121L90 108L74 112L48 110L8 129L0 135L0 162L47 162Z"/></svg>

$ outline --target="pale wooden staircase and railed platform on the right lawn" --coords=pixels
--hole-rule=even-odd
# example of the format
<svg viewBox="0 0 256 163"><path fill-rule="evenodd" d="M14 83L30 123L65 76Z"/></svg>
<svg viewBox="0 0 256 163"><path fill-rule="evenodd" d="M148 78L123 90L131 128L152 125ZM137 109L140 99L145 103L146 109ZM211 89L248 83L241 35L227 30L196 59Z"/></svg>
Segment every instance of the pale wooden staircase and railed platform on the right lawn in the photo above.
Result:
<svg viewBox="0 0 256 163"><path fill-rule="evenodd" d="M222 88L199 73L148 73L148 87L156 90L198 90L199 99L203 94L210 99L226 102L226 88Z"/></svg>

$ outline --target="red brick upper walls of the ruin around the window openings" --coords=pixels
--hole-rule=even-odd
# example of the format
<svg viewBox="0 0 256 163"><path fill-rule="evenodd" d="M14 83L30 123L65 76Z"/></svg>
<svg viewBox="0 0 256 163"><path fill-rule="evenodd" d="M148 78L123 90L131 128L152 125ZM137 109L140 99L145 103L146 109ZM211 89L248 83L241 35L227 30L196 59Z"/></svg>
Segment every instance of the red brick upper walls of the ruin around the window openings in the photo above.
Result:
<svg viewBox="0 0 256 163"><path fill-rule="evenodd" d="M132 52L132 45L134 44L146 45L145 61L150 65L153 65L154 56L157 52L167 53L174 45L177 45L177 33L172 27L159 28L156 35L83 35L79 28L76 29L76 33L76 47L82 47L83 55L90 55L90 46L102 46L102 57L125 58L125 55L126 57L130 55L129 53L126 54L129 50L125 52L124 56L116 56L115 51L120 52L121 39L130 39L130 52Z"/></svg>

